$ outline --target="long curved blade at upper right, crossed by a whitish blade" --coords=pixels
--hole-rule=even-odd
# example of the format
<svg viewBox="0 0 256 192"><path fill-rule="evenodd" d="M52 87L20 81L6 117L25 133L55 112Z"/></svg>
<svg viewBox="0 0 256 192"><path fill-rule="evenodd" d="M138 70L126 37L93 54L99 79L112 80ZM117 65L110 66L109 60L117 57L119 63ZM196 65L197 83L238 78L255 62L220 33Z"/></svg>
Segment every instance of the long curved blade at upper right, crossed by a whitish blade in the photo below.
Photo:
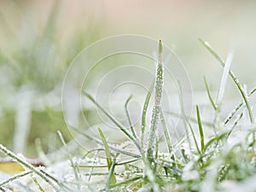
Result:
<svg viewBox="0 0 256 192"><path fill-rule="evenodd" d="M222 59L216 54L216 52L211 48L211 46L207 42L202 40L201 38L199 38L199 41L201 42L201 44L203 44L207 48L207 50L210 51L210 53L217 59L217 61L222 65L222 67L224 67L224 65L225 65L224 61L222 61ZM250 108L249 102L247 100L247 95L245 94L244 90L242 89L241 84L239 83L239 80L236 78L235 74L231 70L229 71L229 73L230 73L230 77L233 79L238 90L240 91L240 94L247 106L247 111L249 113L251 123L254 123L253 112L252 112L252 109Z"/></svg>

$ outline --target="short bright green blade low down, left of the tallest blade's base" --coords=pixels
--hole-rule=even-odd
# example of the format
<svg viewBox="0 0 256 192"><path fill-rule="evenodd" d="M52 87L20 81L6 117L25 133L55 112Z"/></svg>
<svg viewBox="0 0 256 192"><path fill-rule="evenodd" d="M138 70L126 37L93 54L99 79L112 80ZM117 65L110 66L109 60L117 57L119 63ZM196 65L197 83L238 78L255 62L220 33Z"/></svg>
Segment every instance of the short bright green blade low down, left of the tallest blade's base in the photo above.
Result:
<svg viewBox="0 0 256 192"><path fill-rule="evenodd" d="M108 142L102 132L102 130L100 128L98 128L99 131L99 135L102 138L102 143L104 145L105 148L105 153L106 153L106 157L107 157L107 165L108 165L108 171L112 171L111 172L111 176L109 177L109 181L107 182L107 186L109 186L110 184L114 184L116 183L116 178L114 176L114 161L112 161L112 157L111 157L111 152L110 149L108 147Z"/></svg>

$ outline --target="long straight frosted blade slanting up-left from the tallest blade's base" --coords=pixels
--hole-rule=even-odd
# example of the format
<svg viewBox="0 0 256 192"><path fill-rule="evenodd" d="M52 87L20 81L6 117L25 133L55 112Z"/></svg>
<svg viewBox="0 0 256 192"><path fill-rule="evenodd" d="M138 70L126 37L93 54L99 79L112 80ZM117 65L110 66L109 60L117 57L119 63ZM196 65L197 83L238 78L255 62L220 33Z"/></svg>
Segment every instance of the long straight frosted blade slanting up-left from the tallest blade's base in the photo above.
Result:
<svg viewBox="0 0 256 192"><path fill-rule="evenodd" d="M94 99L92 96L90 96L90 94L88 94L88 93L85 92L85 91L83 91L83 93L84 93L84 96L86 96L87 98L89 98L90 101L93 102L93 103L96 105L97 108L101 109L102 112L103 112L104 114L106 114L107 117L108 117L109 119L111 119L112 122L113 122L115 125L117 125L117 127L119 128L119 130L122 131L123 133L125 133L125 136L129 137L129 138L131 139L131 141L132 141L133 143L135 143L136 146L137 146L137 148L141 151L141 147L140 147L139 143L137 142L137 139L136 139L135 137L133 137L133 136L130 134L130 132L127 131L127 130L125 129L125 127L119 123L118 120L116 120L110 113L108 113L104 108L102 108L102 106L101 106L98 102L96 102L95 99Z"/></svg>

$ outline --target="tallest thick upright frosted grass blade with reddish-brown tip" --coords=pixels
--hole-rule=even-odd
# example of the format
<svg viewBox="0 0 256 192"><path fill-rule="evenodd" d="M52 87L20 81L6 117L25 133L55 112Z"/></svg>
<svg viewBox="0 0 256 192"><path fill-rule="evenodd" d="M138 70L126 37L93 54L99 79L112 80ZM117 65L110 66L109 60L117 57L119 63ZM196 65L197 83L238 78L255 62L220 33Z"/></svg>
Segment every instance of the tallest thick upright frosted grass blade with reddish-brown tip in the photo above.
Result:
<svg viewBox="0 0 256 192"><path fill-rule="evenodd" d="M148 141L148 156L152 156L154 142L155 142L155 133L160 117L160 103L162 99L162 91L163 91L163 75L164 75L164 68L163 68L163 53L162 53L162 41L159 40L159 47L158 47L158 61L157 61L157 69L156 69L156 77L155 77L155 84L154 84L154 107L151 117L151 125L150 125L150 132L149 132L149 141Z"/></svg>

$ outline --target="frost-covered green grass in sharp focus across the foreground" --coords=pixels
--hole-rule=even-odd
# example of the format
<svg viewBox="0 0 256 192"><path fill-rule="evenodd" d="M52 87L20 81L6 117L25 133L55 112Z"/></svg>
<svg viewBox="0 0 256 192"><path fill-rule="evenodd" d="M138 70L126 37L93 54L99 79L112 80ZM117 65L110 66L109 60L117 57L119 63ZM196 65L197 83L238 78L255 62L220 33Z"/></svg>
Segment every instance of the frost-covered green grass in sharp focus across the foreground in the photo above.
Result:
<svg viewBox="0 0 256 192"><path fill-rule="evenodd" d="M127 104L125 113L129 119L130 127L119 123L111 113L108 113L101 104L95 101L84 91L84 96L96 105L96 108L105 115L122 131L129 142L124 147L117 147L108 143L103 131L98 128L96 138L86 134L80 129L80 136L97 143L98 148L92 148L84 157L74 158L68 150L64 138L59 132L61 143L66 148L66 154L72 167L68 179L57 177L52 172L47 172L40 167L34 167L22 160L19 156L0 145L0 151L26 167L26 172L21 172L14 177L0 183L0 189L5 189L10 183L20 177L32 177L38 190L46 191L42 183L48 183L55 191L255 191L256 166L255 166L255 124L253 106L249 102L254 90L247 92L232 71L230 64L232 53L223 61L211 46L205 41L201 43L224 67L216 102L212 98L211 90L205 79L209 104L212 105L212 122L205 122L201 118L200 107L195 107L195 118L188 118L183 112L183 124L187 135L179 144L173 146L161 109L161 96L163 90L163 63L162 42L159 41L159 59L156 67L154 84L148 90L148 95L143 103L141 118L141 132L137 134L131 125ZM234 109L226 118L222 115L224 106L224 90L227 79L231 78L241 94L241 102L234 103ZM150 99L154 100L153 108L148 108ZM182 100L182 96L181 96ZM151 122L146 122L148 110L152 110ZM167 151L164 153L159 148L159 138L156 131L161 125L164 132ZM148 143L144 142L146 127L149 127ZM205 130L211 129L213 134L206 137ZM131 150L137 148L137 150ZM105 154L102 158L100 153ZM120 156L126 157L119 158ZM128 159L127 159L128 158ZM61 172L61 170L60 170Z"/></svg>

